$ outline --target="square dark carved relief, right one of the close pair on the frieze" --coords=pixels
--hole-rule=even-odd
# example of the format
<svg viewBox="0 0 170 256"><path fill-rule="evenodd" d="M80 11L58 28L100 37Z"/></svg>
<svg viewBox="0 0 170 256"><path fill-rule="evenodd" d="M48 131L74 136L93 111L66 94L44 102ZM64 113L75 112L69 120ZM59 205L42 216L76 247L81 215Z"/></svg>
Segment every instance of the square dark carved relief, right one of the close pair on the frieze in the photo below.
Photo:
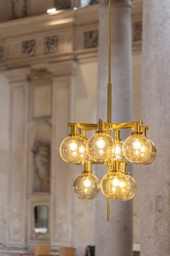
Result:
<svg viewBox="0 0 170 256"><path fill-rule="evenodd" d="M43 40L43 51L44 54L52 54L58 51L58 36L46 36Z"/></svg>

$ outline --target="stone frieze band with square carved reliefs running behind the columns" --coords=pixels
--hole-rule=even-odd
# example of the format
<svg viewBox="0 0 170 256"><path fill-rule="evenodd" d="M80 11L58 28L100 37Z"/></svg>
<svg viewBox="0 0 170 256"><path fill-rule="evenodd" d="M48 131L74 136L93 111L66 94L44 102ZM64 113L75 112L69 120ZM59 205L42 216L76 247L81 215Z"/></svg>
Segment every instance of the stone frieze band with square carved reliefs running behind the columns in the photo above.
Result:
<svg viewBox="0 0 170 256"><path fill-rule="evenodd" d="M130 1L114 2L121 7L119 4ZM0 70L72 59L96 59L99 7L94 4L77 11L1 23ZM142 1L132 1L132 7L133 51L141 51Z"/></svg>

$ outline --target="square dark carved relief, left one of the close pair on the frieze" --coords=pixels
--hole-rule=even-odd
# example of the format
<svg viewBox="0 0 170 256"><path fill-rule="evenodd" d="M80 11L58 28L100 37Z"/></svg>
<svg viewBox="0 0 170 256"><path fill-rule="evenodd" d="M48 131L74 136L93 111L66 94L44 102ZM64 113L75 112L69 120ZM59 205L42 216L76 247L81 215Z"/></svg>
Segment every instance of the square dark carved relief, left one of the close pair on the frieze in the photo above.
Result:
<svg viewBox="0 0 170 256"><path fill-rule="evenodd" d="M33 57L35 56L35 51L35 40L22 41L22 57Z"/></svg>

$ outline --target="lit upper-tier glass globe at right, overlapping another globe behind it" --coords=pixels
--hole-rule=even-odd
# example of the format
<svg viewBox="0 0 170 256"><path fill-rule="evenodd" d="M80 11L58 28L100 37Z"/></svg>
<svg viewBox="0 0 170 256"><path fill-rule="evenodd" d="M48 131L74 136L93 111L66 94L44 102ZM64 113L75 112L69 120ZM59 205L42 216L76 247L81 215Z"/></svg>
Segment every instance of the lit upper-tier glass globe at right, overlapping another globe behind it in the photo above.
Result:
<svg viewBox="0 0 170 256"><path fill-rule="evenodd" d="M133 134L124 141L123 153L129 162L142 164L149 159L152 153L152 146L144 135Z"/></svg>

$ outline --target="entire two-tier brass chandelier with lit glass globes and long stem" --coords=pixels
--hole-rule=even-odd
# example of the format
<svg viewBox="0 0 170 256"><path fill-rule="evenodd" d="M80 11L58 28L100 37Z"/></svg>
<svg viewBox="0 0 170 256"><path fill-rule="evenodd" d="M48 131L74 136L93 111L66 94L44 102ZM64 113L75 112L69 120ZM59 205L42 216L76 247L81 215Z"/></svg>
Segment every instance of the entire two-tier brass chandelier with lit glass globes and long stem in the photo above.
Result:
<svg viewBox="0 0 170 256"><path fill-rule="evenodd" d="M137 185L127 173L127 162L149 165L156 159L156 146L146 136L148 126L142 121L111 122L111 0L109 0L109 82L107 86L107 122L69 123L71 133L61 142L60 154L65 162L84 165L75 178L73 190L80 199L94 199L101 191L107 199L107 220L110 220L110 199L128 201L135 196ZM120 139L120 131L132 134ZM87 137L88 131L95 134ZM91 164L106 166L101 183L91 170Z"/></svg>

